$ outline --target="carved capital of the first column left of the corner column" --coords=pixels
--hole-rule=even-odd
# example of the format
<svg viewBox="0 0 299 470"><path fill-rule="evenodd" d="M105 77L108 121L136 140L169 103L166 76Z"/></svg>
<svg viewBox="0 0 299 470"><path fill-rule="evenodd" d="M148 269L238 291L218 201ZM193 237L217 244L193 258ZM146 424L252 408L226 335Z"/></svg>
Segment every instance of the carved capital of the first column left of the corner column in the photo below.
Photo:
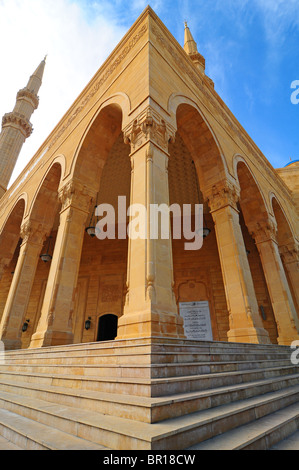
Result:
<svg viewBox="0 0 299 470"><path fill-rule="evenodd" d="M72 180L59 190L58 198L62 204L61 211L72 206L83 212L89 212L90 205L95 198L95 192L89 190L82 183Z"/></svg>

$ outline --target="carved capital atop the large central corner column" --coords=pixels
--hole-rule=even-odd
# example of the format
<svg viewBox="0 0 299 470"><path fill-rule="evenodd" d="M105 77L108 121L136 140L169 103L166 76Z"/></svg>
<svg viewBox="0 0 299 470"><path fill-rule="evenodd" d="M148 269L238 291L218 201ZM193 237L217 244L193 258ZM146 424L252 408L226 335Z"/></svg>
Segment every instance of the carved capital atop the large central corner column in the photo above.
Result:
<svg viewBox="0 0 299 470"><path fill-rule="evenodd" d="M132 152L146 142L168 152L168 144L174 142L175 133L176 129L150 106L123 130L124 141L131 145Z"/></svg>

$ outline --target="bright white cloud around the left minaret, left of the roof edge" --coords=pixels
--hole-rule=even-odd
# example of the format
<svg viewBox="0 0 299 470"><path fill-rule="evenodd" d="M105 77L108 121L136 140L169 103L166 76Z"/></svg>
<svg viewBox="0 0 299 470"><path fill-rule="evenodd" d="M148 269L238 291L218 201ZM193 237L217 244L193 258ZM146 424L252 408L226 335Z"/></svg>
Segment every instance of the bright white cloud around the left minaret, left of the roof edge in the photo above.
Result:
<svg viewBox="0 0 299 470"><path fill-rule="evenodd" d="M13 173L14 180L77 98L126 28L104 12L92 21L84 3L71 0L0 0L0 115L12 111L16 93L48 54L35 128Z"/></svg>

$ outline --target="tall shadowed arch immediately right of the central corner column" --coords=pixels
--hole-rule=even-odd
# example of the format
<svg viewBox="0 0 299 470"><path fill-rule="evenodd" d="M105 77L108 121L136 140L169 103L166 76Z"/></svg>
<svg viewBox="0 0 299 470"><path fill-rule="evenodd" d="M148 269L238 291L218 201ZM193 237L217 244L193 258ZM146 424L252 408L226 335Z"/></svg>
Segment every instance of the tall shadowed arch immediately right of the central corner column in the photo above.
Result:
<svg viewBox="0 0 299 470"><path fill-rule="evenodd" d="M175 141L169 145L170 203L181 207L191 204L192 208L203 204L204 225L210 230L197 251L185 251L184 239L172 240L176 300L179 308L180 299L187 301L188 296L182 297L182 286L190 286L189 280L194 279L195 288L190 289L193 297L189 300L208 302L213 337L226 341L229 314L208 200L215 187L225 186L232 178L217 137L197 103L183 95L172 95L168 110L177 128Z"/></svg>

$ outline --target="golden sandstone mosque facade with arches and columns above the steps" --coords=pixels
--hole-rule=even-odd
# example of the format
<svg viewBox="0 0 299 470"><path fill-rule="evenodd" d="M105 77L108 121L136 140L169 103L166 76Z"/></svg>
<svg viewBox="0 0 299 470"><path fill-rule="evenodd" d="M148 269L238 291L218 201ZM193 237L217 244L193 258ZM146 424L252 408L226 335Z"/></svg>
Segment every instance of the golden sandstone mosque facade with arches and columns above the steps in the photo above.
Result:
<svg viewBox="0 0 299 470"><path fill-rule="evenodd" d="M299 164L270 165L205 75L187 25L185 34L184 50L148 7L9 190L36 94L26 119L3 121L7 349L111 339L111 315L119 340L184 338L179 303L189 301L209 302L215 341L299 339ZM117 208L118 196L203 204L210 235L197 251L185 240L91 238L95 205Z"/></svg>

